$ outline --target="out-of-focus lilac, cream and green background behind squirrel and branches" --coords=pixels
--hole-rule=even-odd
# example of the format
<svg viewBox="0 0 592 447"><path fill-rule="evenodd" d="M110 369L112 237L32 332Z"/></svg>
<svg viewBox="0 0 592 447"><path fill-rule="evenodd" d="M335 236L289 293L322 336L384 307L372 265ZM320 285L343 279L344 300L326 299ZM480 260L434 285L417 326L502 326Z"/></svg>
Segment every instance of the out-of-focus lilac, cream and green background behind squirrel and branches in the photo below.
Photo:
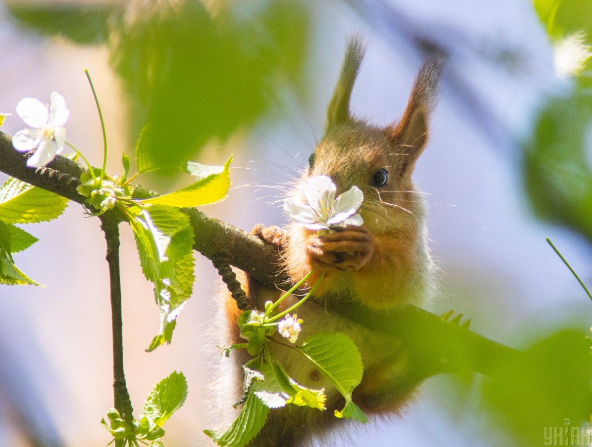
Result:
<svg viewBox="0 0 592 447"><path fill-rule="evenodd" d="M158 128L152 150L163 165L221 164L232 152L229 198L204 211L250 230L286 222L272 204L281 194L274 185L294 179L322 137L350 34L368 41L352 110L379 125L400 117L423 57L438 48L448 66L415 172L441 270L434 308L462 311L475 332L525 348L564 326L585 333L592 321L592 303L545 242L551 237L590 283L592 15L584 3L11 0L0 3L0 112L13 114L2 130L24 127L20 99L49 102L57 91L70 109L68 139L100 165L87 68L105 117L108 171L120 171L121 152L133 155L146 123ZM160 192L190 181L174 169L140 179ZM70 205L58 221L27 230L40 242L15 262L46 287L0 286L0 445L105 445L99 420L112 406L112 364L98 220ZM196 254L194 294L172 345L146 353L157 308L131 231L121 232L132 402L139 413L157 381L184 372L189 397L163 440L202 445L202 430L215 425L204 346L217 275ZM496 423L477 397L481 382L430 379L400 419L324 445L542 445Z"/></svg>

